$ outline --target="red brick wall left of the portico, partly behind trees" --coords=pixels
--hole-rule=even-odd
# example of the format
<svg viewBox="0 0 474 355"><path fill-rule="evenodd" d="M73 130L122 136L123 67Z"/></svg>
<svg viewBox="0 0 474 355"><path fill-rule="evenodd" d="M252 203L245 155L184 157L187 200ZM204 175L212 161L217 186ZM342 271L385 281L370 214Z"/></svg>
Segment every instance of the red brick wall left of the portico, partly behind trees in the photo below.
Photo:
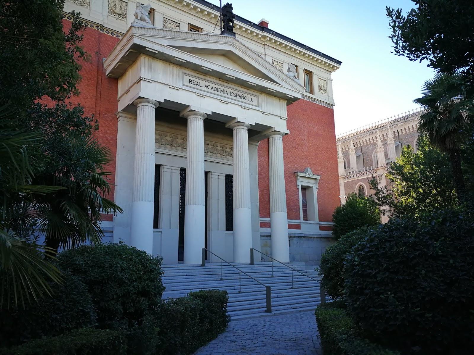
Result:
<svg viewBox="0 0 474 355"><path fill-rule="evenodd" d="M64 31L69 30L71 22L63 20ZM78 85L80 95L71 98L73 104L84 107L86 115L94 115L99 120L98 140L107 146L111 152L111 161L107 171L110 171L109 183L112 191L108 196L113 199L115 183L115 157L117 151L117 79L107 78L102 65L120 39L106 35L98 30L87 27L84 30L82 46L89 53L90 61L81 62L82 80ZM111 221L111 216L104 218Z"/></svg>

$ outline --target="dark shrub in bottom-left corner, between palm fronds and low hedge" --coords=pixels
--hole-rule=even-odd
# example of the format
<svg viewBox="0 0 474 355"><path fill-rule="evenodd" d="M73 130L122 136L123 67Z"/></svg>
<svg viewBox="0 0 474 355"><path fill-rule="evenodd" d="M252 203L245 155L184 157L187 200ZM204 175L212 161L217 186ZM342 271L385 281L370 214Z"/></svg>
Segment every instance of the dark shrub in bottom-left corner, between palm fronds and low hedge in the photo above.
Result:
<svg viewBox="0 0 474 355"><path fill-rule="evenodd" d="M53 297L46 297L39 305L27 304L25 308L1 312L1 345L20 344L29 339L95 326L96 314L86 285L68 272L63 275L62 285L51 283Z"/></svg>

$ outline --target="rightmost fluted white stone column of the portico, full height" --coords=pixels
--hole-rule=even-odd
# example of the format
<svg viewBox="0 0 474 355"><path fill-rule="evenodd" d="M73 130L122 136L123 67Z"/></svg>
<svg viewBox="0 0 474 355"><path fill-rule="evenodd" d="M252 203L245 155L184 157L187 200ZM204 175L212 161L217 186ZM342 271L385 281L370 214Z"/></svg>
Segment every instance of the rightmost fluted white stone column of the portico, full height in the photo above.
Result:
<svg viewBox="0 0 474 355"><path fill-rule="evenodd" d="M268 137L270 175L270 227L272 257L282 263L290 262L288 246L288 215L283 166L283 134L276 132Z"/></svg>

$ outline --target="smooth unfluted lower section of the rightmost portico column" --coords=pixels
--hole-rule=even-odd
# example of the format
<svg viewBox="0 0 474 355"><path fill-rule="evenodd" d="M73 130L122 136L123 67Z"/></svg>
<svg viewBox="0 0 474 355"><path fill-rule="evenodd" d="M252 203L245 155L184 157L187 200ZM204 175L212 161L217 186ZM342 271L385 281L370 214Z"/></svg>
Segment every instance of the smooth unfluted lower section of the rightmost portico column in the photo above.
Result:
<svg viewBox="0 0 474 355"><path fill-rule="evenodd" d="M270 213L272 257L282 263L290 262L288 246L288 215L286 212Z"/></svg>

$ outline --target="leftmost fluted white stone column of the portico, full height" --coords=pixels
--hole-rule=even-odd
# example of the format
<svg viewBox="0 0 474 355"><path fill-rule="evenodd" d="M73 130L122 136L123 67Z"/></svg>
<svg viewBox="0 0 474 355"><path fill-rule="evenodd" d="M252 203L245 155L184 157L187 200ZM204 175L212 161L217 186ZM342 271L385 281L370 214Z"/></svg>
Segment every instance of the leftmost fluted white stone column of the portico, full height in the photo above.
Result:
<svg viewBox="0 0 474 355"><path fill-rule="evenodd" d="M158 102L139 98L133 166L130 244L153 253L153 205L155 200L155 108Z"/></svg>

